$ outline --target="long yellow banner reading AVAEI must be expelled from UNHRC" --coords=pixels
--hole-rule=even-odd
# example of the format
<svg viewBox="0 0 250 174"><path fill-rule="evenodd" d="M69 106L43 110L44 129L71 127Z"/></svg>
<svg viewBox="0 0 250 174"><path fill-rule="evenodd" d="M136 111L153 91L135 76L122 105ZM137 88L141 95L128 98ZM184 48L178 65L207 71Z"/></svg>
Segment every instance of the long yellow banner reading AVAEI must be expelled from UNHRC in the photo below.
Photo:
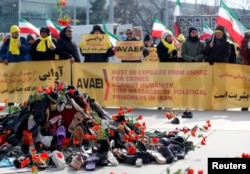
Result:
<svg viewBox="0 0 250 174"><path fill-rule="evenodd" d="M206 63L88 63L73 67L73 84L104 106L211 108L212 70Z"/></svg>

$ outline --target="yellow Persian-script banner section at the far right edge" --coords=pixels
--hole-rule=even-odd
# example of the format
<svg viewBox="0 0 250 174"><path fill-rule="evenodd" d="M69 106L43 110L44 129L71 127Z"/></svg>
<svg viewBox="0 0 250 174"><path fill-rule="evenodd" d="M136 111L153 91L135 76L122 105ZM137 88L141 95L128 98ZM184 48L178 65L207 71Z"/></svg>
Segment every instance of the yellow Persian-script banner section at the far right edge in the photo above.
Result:
<svg viewBox="0 0 250 174"><path fill-rule="evenodd" d="M247 65L213 65L214 110L250 106L250 69Z"/></svg>

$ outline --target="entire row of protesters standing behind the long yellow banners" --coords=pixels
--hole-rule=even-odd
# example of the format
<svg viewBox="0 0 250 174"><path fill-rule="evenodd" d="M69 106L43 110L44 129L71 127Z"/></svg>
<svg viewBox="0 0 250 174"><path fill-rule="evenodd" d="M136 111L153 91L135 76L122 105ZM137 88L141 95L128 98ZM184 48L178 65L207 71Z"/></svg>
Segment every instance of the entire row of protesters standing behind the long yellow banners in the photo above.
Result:
<svg viewBox="0 0 250 174"><path fill-rule="evenodd" d="M84 62L108 62L109 57L114 56L114 49L111 43L107 43L106 53L82 53L80 48L72 41L72 28L65 27L60 32L60 38L51 37L48 27L41 27L40 37L35 38L28 35L27 39L20 37L20 29L13 25L10 28L10 37L3 43L0 50L0 59L3 63L21 62L21 61L39 61L39 60L65 60L71 62L80 62L80 53L84 56ZM90 34L105 34L99 25L94 25ZM132 29L126 30L125 41L138 41ZM250 32L245 33L245 38L240 47L235 47L228 41L228 36L223 26L217 26L212 38L206 42L200 40L198 30L190 27L188 36L185 38L182 34L177 37L176 42L171 32L165 31L157 44L154 46L151 36L146 35L143 42L144 48L142 59L149 55L149 48L155 47L159 62L214 62L236 63L236 52L239 51L239 57L243 64L249 64L250 55L249 44ZM121 62L141 62L141 60L122 60Z"/></svg>

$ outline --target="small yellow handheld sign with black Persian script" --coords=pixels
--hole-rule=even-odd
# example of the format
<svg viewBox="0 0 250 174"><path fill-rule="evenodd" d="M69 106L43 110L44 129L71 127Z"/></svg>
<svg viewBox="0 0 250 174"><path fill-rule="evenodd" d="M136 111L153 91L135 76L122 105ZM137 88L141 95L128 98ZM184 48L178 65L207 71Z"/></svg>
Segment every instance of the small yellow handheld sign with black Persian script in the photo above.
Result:
<svg viewBox="0 0 250 174"><path fill-rule="evenodd" d="M82 38L82 53L106 53L110 45L106 34L84 34Z"/></svg>

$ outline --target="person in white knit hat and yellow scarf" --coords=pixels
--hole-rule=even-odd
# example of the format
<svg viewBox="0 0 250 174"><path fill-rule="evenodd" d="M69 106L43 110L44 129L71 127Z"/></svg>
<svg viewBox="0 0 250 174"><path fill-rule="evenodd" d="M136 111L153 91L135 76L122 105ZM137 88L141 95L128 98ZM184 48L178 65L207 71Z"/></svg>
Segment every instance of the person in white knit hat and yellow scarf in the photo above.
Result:
<svg viewBox="0 0 250 174"><path fill-rule="evenodd" d="M156 48L160 62L177 62L177 50L171 32L165 31L162 34L161 41Z"/></svg>

